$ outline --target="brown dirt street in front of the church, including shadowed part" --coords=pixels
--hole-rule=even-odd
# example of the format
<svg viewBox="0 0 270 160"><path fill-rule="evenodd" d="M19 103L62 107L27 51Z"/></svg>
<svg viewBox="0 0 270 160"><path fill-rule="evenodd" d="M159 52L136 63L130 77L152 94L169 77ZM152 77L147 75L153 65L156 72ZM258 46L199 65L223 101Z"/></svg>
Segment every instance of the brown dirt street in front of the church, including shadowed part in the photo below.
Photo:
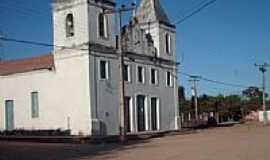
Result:
<svg viewBox="0 0 270 160"><path fill-rule="evenodd" d="M254 124L126 146L0 142L1 160L269 160L270 127Z"/></svg>

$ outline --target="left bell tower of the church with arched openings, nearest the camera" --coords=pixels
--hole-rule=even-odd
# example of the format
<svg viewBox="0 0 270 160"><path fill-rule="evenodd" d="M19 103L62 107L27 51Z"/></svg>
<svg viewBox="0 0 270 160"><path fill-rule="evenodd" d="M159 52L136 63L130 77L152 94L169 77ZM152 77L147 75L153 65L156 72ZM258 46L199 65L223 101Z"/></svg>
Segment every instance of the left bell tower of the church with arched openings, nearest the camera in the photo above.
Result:
<svg viewBox="0 0 270 160"><path fill-rule="evenodd" d="M114 0L53 0L54 45L81 48L91 44L113 47ZM60 50L61 47L54 47Z"/></svg>

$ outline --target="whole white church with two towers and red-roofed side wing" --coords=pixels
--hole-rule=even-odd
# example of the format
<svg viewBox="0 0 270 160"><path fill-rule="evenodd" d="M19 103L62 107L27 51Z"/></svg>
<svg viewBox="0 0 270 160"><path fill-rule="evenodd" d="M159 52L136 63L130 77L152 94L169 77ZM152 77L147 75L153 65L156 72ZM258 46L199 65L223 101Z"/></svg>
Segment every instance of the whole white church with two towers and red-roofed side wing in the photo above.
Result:
<svg viewBox="0 0 270 160"><path fill-rule="evenodd" d="M54 0L54 49L0 61L0 130L119 134L114 0ZM158 0L141 0L123 27L127 131L180 128L176 28Z"/></svg>

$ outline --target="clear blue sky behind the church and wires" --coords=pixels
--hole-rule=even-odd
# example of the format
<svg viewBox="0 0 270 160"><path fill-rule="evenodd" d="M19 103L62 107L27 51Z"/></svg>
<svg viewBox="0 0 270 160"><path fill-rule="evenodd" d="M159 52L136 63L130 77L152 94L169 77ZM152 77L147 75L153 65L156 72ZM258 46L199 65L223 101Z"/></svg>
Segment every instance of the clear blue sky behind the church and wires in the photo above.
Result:
<svg viewBox="0 0 270 160"><path fill-rule="evenodd" d="M132 0L116 0L118 5ZM205 0L160 0L176 22ZM209 0L210 1L210 0ZM51 0L1 0L0 34L8 38L52 44ZM139 0L137 1L139 3ZM261 86L255 63L270 62L270 1L217 0L177 27L179 71L244 86ZM52 51L50 47L0 41L0 57L17 59ZM269 68L270 70L270 68ZM270 72L267 91L270 92ZM179 85L191 95L189 78L179 74ZM244 88L206 81L199 94L240 94Z"/></svg>

